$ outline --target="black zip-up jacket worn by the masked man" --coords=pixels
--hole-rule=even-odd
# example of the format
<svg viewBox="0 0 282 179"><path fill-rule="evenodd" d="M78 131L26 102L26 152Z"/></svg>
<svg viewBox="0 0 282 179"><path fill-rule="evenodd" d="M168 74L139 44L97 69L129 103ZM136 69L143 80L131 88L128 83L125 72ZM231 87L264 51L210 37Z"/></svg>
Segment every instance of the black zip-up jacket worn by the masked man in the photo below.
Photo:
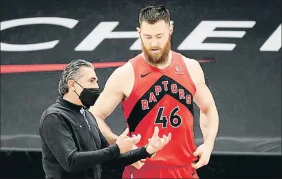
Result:
<svg viewBox="0 0 282 179"><path fill-rule="evenodd" d="M109 146L91 112L58 97L43 112L39 134L46 178L95 178L102 171L124 169L147 154L144 147L120 154Z"/></svg>

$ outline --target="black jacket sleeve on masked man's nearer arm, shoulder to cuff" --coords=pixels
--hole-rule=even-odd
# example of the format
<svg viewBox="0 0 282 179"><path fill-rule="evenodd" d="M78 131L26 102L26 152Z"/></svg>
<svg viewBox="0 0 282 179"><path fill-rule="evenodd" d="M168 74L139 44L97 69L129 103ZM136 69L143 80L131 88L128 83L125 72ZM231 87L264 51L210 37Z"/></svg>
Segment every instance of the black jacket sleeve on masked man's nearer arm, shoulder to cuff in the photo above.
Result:
<svg viewBox="0 0 282 179"><path fill-rule="evenodd" d="M91 168L120 156L120 149L116 144L102 150L78 152L72 133L58 114L45 117L40 134L58 163L68 172Z"/></svg>

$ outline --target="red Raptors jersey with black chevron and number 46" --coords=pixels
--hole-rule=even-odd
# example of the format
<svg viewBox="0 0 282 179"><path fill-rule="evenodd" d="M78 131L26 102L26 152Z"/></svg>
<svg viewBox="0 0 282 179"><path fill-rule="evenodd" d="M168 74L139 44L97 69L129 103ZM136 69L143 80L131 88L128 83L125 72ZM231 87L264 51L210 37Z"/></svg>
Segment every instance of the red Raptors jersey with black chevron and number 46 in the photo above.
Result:
<svg viewBox="0 0 282 179"><path fill-rule="evenodd" d="M142 147L148 143L155 126L159 136L171 132L172 139L146 161L149 167L191 165L196 150L193 133L193 95L196 88L180 53L172 52L169 67L158 69L144 61L141 54L129 60L135 83L129 97L122 102L130 135L141 134ZM144 165L144 166L145 166Z"/></svg>

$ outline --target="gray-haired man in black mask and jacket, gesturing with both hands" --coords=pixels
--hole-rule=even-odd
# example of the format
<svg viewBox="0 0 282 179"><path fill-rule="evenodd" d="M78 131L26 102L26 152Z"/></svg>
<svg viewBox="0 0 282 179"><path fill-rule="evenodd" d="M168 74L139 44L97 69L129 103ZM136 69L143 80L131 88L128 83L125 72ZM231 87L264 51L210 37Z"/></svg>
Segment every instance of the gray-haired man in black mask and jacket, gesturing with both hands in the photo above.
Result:
<svg viewBox="0 0 282 179"><path fill-rule="evenodd" d="M160 138L158 128L149 143L131 150L140 135L128 137L126 129L116 143L109 146L96 119L87 110L99 96L98 77L91 63L70 62L58 84L60 96L41 117L45 178L102 178L102 171L122 170L138 160L151 157L171 140L171 134Z"/></svg>

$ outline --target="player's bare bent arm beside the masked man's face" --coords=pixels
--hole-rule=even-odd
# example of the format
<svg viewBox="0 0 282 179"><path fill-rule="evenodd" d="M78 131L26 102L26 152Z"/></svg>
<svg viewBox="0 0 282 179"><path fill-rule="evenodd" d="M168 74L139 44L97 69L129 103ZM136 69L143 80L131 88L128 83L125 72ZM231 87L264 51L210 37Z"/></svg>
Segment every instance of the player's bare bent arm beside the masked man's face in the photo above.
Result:
<svg viewBox="0 0 282 179"><path fill-rule="evenodd" d="M102 134L105 136L110 145L116 142L118 136L113 134L107 123L105 123L105 119L111 115L111 112L113 112L118 104L120 104L122 98L124 97L124 93L122 91L122 80L124 80L124 76L122 75L122 72L122 67L113 71L107 80L100 97L98 97L94 106L89 108L89 111L96 118Z"/></svg>

